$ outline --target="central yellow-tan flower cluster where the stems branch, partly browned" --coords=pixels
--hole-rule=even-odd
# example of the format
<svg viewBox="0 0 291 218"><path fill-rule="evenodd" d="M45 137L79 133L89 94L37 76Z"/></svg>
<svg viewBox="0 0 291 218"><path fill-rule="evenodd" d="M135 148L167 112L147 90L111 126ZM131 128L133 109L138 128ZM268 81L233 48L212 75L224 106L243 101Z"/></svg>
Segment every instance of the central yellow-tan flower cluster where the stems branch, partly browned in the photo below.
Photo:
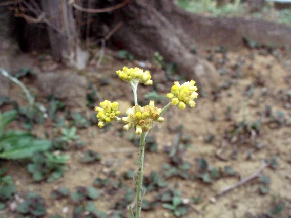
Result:
<svg viewBox="0 0 291 218"><path fill-rule="evenodd" d="M161 109L155 107L155 102L150 101L149 105L141 107L136 105L129 108L126 113L127 117L122 117L121 121L126 123L124 130L135 128L135 133L140 135L143 131L149 131L155 121L163 122L164 119L160 116Z"/></svg>

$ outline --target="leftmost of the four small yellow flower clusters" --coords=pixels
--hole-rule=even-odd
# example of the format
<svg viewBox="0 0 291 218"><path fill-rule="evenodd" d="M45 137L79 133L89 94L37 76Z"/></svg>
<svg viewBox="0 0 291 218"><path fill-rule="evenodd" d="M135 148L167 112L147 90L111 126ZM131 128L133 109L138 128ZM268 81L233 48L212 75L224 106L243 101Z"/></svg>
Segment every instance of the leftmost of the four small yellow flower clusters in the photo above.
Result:
<svg viewBox="0 0 291 218"><path fill-rule="evenodd" d="M110 102L108 100L100 102L100 107L95 107L95 111L98 112L98 126L102 128L105 123L110 123L111 121L117 120L117 115L120 114L118 111L118 102Z"/></svg>

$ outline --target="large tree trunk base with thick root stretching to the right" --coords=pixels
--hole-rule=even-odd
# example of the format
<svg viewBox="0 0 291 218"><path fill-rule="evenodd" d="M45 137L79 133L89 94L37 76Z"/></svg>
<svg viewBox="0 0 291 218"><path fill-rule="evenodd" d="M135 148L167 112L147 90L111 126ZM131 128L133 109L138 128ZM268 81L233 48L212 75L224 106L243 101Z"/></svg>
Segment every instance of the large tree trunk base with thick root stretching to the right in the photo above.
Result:
<svg viewBox="0 0 291 218"><path fill-rule="evenodd" d="M243 37L266 45L291 45L290 27L255 19L196 15L169 0L132 0L119 10L116 20L125 23L114 35L124 48L147 59L158 51L165 60L178 63L181 73L195 76L208 87L217 85L218 74L211 63L191 52L194 47L237 49L244 46Z"/></svg>

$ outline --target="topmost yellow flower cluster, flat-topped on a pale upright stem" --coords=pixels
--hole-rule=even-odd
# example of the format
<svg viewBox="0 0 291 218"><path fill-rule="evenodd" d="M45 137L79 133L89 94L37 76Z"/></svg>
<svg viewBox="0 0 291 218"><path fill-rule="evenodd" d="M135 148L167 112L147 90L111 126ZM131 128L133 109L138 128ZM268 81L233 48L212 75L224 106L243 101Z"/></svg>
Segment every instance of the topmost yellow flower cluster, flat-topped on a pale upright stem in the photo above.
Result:
<svg viewBox="0 0 291 218"><path fill-rule="evenodd" d="M143 72L140 68L127 68L123 67L122 71L116 71L120 79L126 82L133 81L134 83L142 82L145 85L153 84L152 76L149 71Z"/></svg>

